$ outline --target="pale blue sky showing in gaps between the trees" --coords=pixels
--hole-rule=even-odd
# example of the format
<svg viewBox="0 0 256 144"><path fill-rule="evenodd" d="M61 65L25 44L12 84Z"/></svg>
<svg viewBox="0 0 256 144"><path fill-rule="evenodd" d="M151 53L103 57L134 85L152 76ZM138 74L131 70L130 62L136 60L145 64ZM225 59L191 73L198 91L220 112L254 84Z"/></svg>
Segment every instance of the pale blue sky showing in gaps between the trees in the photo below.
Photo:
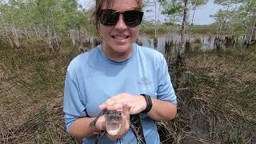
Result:
<svg viewBox="0 0 256 144"><path fill-rule="evenodd" d="M82 6L85 6L86 9L90 8L91 6L94 6L94 0L78 0L79 3L82 4ZM195 11L194 15L194 24L195 25L210 25L214 22L214 18L210 18L210 14L216 14L219 9L221 9L222 6L218 6L214 4L214 0L209 0L209 2L206 4L206 6L201 6ZM154 7L152 8L146 8L154 10ZM192 13L190 14L192 16ZM146 13L145 17L147 19L153 19L154 18L154 12ZM163 20L164 16L160 16L160 20Z"/></svg>

